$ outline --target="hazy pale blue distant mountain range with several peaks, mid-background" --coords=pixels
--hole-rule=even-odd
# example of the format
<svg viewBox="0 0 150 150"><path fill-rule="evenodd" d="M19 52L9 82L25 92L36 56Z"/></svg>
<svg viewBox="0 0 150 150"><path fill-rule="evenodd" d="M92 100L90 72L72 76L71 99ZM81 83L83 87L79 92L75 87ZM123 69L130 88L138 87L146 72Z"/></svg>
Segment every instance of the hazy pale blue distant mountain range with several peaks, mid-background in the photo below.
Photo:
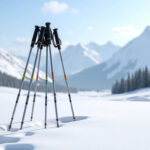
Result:
<svg viewBox="0 0 150 150"><path fill-rule="evenodd" d="M111 42L104 45L98 45L94 42L86 46L81 44L70 45L62 52L66 72L71 75L100 64L110 58L119 48ZM107 51L109 54L106 54ZM54 56L54 68L57 76L62 75L59 54Z"/></svg>

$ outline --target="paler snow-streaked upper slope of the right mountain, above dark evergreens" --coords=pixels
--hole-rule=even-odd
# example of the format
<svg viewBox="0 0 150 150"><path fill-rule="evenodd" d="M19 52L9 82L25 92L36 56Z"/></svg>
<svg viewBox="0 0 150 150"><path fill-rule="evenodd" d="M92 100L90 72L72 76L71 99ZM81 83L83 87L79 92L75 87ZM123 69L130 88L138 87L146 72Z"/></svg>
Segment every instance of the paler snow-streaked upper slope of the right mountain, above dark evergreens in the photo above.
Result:
<svg viewBox="0 0 150 150"><path fill-rule="evenodd" d="M133 72L145 66L150 68L149 60L150 26L148 26L140 36L128 42L118 53L115 53L106 63L107 67L105 69L111 68L114 64L119 64L118 67L108 75L108 77L111 78L122 70Z"/></svg>

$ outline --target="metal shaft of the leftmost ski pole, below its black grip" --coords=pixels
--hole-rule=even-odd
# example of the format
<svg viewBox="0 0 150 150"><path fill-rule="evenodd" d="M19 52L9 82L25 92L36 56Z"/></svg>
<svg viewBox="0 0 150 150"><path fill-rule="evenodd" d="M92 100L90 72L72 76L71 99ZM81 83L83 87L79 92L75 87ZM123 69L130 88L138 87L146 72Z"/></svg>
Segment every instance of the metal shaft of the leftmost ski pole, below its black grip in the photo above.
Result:
<svg viewBox="0 0 150 150"><path fill-rule="evenodd" d="M11 121L10 121L10 124L9 124L9 127L8 127L8 131L10 131L11 126L12 126L12 123L13 123L14 115L15 115L16 108L17 108L17 105L18 105L18 102L19 102L19 98L20 98L20 94L21 94L22 87L23 87L24 78L25 78L25 76L26 76L26 72L27 72L27 68L28 68L28 64L29 64L29 60L30 60L30 56L31 56L32 49L33 49L33 48L31 47L31 48L30 48L30 51L29 51L28 59L27 59L27 62L26 62L26 66L25 66L25 69L24 69L23 76L22 76L21 85L20 85L19 92L18 92L18 95L17 95L17 98L16 98L16 102L15 102L15 106L14 106L14 109L13 109Z"/></svg>

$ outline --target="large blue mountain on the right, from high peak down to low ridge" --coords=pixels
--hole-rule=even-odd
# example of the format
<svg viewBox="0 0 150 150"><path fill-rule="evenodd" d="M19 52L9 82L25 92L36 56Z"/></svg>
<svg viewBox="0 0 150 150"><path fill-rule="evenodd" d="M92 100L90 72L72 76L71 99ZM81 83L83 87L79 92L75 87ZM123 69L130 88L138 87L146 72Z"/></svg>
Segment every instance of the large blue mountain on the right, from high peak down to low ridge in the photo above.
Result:
<svg viewBox="0 0 150 150"><path fill-rule="evenodd" d="M145 66L150 68L150 26L108 61L70 76L69 83L79 89L107 89L128 72Z"/></svg>

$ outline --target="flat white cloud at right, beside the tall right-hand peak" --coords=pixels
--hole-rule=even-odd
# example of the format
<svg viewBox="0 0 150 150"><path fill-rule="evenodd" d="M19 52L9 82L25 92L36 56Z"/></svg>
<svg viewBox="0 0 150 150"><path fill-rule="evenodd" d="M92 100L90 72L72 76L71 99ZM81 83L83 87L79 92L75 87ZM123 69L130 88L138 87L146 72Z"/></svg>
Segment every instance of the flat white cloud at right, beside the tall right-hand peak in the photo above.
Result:
<svg viewBox="0 0 150 150"><path fill-rule="evenodd" d="M119 36L138 36L142 31L134 28L133 26L121 26L112 29L113 33Z"/></svg>

